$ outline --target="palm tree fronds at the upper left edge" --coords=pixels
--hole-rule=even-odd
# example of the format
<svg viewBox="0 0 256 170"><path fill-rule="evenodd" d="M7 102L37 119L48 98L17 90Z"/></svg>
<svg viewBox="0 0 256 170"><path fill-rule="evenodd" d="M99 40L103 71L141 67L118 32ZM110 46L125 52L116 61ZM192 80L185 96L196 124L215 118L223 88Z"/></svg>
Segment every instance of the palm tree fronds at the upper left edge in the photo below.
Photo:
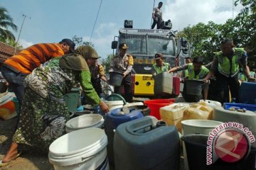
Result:
<svg viewBox="0 0 256 170"><path fill-rule="evenodd" d="M0 6L0 40L3 42L15 41L14 34L8 28L17 31L17 26L13 23L13 18L9 16L6 8Z"/></svg>

